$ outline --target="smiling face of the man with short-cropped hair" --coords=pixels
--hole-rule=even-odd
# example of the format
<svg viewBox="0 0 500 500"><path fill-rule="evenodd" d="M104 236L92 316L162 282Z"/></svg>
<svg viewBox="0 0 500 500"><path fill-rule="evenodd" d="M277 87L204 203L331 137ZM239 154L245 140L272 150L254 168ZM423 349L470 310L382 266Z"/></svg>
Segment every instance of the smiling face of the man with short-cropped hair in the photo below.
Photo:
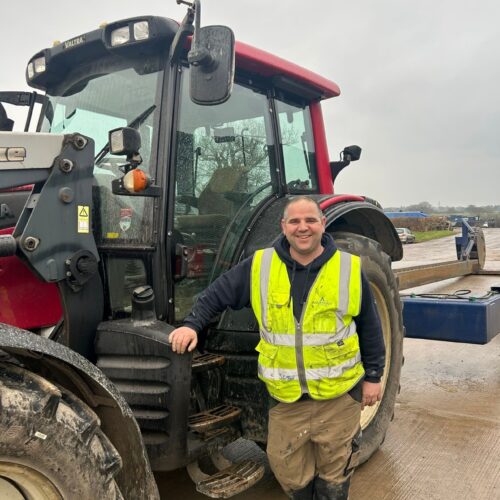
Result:
<svg viewBox="0 0 500 500"><path fill-rule="evenodd" d="M321 253L325 222L315 203L299 200L288 206L286 218L281 219L281 229L290 243L292 257L294 252L314 257Z"/></svg>

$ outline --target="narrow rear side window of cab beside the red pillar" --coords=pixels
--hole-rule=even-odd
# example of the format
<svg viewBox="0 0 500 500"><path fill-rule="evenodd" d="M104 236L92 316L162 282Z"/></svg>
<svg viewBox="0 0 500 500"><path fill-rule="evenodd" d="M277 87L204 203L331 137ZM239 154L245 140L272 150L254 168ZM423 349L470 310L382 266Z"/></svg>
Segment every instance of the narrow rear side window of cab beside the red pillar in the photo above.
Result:
<svg viewBox="0 0 500 500"><path fill-rule="evenodd" d="M288 190L316 191L316 158L309 107L276 101Z"/></svg>

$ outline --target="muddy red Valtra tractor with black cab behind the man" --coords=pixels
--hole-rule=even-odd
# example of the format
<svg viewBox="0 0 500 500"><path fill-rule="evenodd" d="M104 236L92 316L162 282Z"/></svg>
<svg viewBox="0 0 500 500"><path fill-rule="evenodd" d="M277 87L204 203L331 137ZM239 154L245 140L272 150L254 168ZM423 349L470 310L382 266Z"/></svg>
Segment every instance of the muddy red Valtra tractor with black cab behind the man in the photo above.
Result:
<svg viewBox="0 0 500 500"><path fill-rule="evenodd" d="M43 95L0 93L42 104L36 133L0 132L0 483L19 495L156 498L151 469L188 466L199 491L227 498L262 476L250 461L202 473L240 436L266 441L252 312L214 318L193 355L168 334L271 244L293 195L316 198L337 245L362 257L381 317L383 398L362 414L362 461L393 416L402 247L377 202L334 192L361 152L329 160L321 102L339 88L200 28L199 12L44 49L26 73Z"/></svg>

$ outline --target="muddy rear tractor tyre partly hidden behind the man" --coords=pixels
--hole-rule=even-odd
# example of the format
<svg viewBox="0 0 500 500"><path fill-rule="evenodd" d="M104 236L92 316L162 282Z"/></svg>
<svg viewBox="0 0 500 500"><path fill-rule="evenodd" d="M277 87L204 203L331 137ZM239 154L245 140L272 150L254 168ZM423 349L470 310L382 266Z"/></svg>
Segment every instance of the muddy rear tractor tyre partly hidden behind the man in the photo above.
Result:
<svg viewBox="0 0 500 500"><path fill-rule="evenodd" d="M391 260L381 245L369 238L352 233L333 233L336 245L361 257L362 269L370 282L382 324L386 347L382 400L366 407L361 414L360 463L365 462L379 448L394 415L394 405L399 392L399 378L403 364L403 319L396 278Z"/></svg>

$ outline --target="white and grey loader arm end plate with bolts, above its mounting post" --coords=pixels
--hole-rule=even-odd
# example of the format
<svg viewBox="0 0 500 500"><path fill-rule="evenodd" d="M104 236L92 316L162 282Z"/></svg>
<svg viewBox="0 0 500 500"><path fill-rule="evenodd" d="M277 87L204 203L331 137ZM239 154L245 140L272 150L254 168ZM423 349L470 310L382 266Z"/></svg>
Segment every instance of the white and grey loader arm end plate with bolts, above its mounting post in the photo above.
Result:
<svg viewBox="0 0 500 500"><path fill-rule="evenodd" d="M44 281L59 282L71 272L82 284L90 264L75 266L74 255L99 260L91 231L93 146L78 134L0 133L0 189L34 184L14 234L3 237L0 248L13 248L14 238L15 253Z"/></svg>

